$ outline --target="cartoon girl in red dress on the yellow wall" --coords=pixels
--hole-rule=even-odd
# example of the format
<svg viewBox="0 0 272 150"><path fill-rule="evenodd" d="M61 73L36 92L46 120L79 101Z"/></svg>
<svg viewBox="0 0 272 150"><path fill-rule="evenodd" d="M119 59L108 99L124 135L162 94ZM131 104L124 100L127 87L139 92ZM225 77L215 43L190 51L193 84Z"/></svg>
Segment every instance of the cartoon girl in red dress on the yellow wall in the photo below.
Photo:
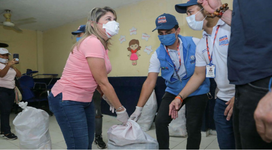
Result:
<svg viewBox="0 0 272 150"><path fill-rule="evenodd" d="M133 39L129 41L128 46L129 47L127 49L128 51L130 51L128 57L130 57L130 60L132 60L132 65L137 65L138 57L141 56L138 53L138 50L141 49L141 46L139 46L139 40Z"/></svg>

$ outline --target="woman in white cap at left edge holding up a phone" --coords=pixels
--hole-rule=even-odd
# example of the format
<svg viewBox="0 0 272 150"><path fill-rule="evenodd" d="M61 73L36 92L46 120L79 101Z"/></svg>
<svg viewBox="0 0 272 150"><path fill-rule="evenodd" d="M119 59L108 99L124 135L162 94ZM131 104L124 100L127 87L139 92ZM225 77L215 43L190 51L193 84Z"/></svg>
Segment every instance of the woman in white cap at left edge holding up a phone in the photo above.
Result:
<svg viewBox="0 0 272 150"><path fill-rule="evenodd" d="M0 137L15 140L17 136L10 131L10 112L15 100L14 78L21 77L21 72L15 66L19 61L8 61L9 55L7 49L0 48Z"/></svg>

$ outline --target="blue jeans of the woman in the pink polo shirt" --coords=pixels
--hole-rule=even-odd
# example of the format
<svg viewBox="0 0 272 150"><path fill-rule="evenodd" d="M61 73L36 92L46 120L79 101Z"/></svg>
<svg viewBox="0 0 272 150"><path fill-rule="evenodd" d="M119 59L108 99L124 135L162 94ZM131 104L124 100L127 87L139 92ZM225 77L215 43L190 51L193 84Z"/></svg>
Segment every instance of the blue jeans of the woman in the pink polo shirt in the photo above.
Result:
<svg viewBox="0 0 272 150"><path fill-rule="evenodd" d="M95 132L93 102L62 100L62 93L48 96L50 111L56 116L67 149L92 149Z"/></svg>

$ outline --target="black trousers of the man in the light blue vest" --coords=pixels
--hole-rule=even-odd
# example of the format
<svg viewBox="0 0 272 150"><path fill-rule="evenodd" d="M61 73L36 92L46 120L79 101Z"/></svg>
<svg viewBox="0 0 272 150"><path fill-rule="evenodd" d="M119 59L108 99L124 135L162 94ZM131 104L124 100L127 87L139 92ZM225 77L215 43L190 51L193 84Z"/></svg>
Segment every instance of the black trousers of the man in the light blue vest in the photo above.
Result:
<svg viewBox="0 0 272 150"><path fill-rule="evenodd" d="M156 136L159 149L169 149L169 105L176 95L165 92L163 95L158 114L155 119ZM186 149L199 149L201 142L201 125L203 114L208 102L207 94L195 95L183 100L182 106L186 104L186 129L188 133Z"/></svg>

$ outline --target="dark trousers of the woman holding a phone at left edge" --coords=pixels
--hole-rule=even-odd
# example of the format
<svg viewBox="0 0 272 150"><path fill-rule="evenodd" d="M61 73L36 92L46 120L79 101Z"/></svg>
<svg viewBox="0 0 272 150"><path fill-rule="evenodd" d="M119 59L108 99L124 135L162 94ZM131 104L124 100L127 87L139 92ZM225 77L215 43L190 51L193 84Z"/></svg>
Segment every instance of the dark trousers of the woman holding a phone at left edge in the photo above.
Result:
<svg viewBox="0 0 272 150"><path fill-rule="evenodd" d="M10 132L10 112L15 100L14 89L0 87L0 121L1 132L9 134Z"/></svg>

